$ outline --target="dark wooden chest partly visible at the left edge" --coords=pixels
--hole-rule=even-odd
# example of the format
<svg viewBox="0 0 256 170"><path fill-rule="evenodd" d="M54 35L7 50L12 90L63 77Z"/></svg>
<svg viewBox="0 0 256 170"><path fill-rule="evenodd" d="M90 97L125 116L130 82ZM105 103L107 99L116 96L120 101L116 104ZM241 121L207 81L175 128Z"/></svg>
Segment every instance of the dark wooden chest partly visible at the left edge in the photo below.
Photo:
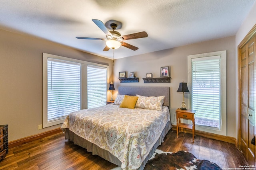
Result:
<svg viewBox="0 0 256 170"><path fill-rule="evenodd" d="M0 161L8 153L8 125L0 125Z"/></svg>

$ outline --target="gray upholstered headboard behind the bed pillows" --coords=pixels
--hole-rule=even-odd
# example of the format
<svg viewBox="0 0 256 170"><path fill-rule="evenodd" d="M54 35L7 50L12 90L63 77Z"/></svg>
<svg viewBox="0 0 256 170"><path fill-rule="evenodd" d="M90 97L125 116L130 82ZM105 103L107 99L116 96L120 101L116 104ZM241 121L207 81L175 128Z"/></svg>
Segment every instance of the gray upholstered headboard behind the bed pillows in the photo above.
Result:
<svg viewBox="0 0 256 170"><path fill-rule="evenodd" d="M170 87L119 86L118 94L130 96L165 96L164 106L170 106Z"/></svg>

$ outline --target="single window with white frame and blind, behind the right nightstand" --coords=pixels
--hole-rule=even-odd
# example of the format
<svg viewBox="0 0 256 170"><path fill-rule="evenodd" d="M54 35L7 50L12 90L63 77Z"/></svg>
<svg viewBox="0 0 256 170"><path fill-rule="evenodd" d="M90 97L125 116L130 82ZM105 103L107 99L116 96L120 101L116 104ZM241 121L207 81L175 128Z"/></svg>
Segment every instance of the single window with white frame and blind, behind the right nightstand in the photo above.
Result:
<svg viewBox="0 0 256 170"><path fill-rule="evenodd" d="M226 135L226 51L188 56L188 81L197 129Z"/></svg>

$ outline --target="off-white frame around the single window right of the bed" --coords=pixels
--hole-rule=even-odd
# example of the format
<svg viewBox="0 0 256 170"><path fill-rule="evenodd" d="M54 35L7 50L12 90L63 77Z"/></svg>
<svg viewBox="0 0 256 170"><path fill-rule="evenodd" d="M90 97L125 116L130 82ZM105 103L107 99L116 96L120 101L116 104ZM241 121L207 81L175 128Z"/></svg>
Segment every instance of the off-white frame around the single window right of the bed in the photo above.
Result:
<svg viewBox="0 0 256 170"><path fill-rule="evenodd" d="M196 130L205 131L208 133L214 133L218 135L227 135L227 111L226 111L226 50L224 51L216 51L211 53L202 53L196 55L188 55L188 89L190 93L188 93L188 108L192 108L192 59L194 58L202 58L202 57L211 57L220 55L220 95L221 95L221 114L220 114L220 129L215 127L208 127L202 125L196 125Z"/></svg>

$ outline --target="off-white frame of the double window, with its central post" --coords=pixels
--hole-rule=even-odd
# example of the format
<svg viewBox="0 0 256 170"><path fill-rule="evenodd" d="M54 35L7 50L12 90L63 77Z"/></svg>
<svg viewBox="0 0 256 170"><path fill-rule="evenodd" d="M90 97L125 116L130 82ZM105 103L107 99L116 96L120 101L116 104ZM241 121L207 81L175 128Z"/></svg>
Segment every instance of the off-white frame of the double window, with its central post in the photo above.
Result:
<svg viewBox="0 0 256 170"><path fill-rule="evenodd" d="M61 124L65 120L65 118L63 118L60 120L48 122L48 117L47 117L48 116L48 74L47 74L48 58L81 64L81 101L80 101L81 109L87 109L87 104L88 104L87 103L87 66L93 65L93 66L105 67L107 69L107 80L109 79L108 65L97 64L97 63L92 63L88 61L82 61L78 59L71 59L68 57L62 57L58 55L43 53L43 128ZM106 86L106 95L107 95L107 88L108 87Z"/></svg>

